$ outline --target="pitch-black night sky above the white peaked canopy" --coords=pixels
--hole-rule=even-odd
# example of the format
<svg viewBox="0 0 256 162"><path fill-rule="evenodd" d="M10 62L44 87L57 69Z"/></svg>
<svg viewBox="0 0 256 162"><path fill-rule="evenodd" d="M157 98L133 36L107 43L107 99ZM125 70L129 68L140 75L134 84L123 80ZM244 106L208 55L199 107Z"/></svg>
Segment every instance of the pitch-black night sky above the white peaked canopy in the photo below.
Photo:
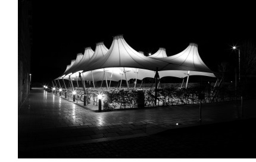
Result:
<svg viewBox="0 0 256 162"><path fill-rule="evenodd" d="M230 5L60 2L33 1L32 82L60 77L77 53L88 46L95 50L101 41L109 48L116 34L137 51L165 47L168 56L198 43L199 55L213 71L234 57L231 45L255 41L253 15Z"/></svg>

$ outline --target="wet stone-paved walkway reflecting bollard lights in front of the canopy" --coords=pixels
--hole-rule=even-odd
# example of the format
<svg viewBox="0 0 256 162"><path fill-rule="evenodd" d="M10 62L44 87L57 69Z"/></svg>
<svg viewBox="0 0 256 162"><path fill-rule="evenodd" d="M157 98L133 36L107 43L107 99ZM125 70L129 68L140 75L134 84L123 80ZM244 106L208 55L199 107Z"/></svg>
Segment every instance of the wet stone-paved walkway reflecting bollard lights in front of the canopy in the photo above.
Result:
<svg viewBox="0 0 256 162"><path fill-rule="evenodd" d="M243 101L243 120L256 117L254 102ZM158 144L170 140L164 135L156 137L158 132L234 121L241 119L241 113L240 101L203 104L202 123L198 122L198 104L99 113L42 89L33 89L18 111L18 157L131 157L130 150L139 145L151 152ZM113 153L110 147L115 150ZM127 154L118 154L117 148L127 150Z"/></svg>

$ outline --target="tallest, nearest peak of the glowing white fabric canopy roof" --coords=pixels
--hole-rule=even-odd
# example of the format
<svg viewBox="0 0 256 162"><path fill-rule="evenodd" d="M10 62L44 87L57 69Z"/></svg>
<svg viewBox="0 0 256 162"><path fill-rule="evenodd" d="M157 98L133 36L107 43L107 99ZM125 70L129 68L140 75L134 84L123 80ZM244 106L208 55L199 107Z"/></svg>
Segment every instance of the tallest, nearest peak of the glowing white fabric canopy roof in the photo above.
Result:
<svg viewBox="0 0 256 162"><path fill-rule="evenodd" d="M101 68L131 67L155 71L156 67L161 69L168 64L141 55L126 43L122 35L118 35L113 37L110 50L99 61L84 65L82 69L90 71Z"/></svg>

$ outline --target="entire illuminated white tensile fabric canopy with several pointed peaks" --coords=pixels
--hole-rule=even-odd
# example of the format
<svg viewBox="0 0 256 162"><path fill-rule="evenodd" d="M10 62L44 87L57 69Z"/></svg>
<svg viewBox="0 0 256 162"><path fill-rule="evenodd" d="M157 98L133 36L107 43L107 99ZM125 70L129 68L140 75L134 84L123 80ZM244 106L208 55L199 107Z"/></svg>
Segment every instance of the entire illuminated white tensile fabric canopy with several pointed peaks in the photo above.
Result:
<svg viewBox="0 0 256 162"><path fill-rule="evenodd" d="M132 78L142 80L146 77L154 78L156 67L160 70L160 78L167 76L185 78L188 75L215 77L202 62L198 45L195 43L190 43L183 52L168 57L163 47L148 57L143 56L142 53L132 49L123 36L114 36L110 50L102 42L96 44L94 53L90 47L86 48L83 58L78 63L71 62L70 67L67 67L64 79L68 79L67 74L70 73L73 73L72 79L77 78L78 72L83 71L82 77L87 81L106 79L119 81Z"/></svg>

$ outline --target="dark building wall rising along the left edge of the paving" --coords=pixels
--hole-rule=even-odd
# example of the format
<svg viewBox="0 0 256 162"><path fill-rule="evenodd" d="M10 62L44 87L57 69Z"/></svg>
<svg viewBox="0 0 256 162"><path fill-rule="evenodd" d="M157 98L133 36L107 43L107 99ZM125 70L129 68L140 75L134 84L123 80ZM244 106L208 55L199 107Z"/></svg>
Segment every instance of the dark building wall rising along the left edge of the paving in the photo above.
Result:
<svg viewBox="0 0 256 162"><path fill-rule="evenodd" d="M18 109L30 93L32 1L18 1Z"/></svg>

